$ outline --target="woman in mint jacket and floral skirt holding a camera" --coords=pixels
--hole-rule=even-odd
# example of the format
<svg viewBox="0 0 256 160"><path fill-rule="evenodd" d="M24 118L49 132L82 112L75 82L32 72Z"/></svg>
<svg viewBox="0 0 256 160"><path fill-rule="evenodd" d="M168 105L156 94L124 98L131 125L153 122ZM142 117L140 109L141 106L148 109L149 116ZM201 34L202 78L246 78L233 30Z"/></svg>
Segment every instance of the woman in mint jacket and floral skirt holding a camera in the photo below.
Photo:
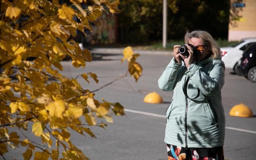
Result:
<svg viewBox="0 0 256 160"><path fill-rule="evenodd" d="M221 51L206 31L187 32L185 43L174 45L174 57L158 80L160 89L173 91L166 111L168 159L224 160Z"/></svg>

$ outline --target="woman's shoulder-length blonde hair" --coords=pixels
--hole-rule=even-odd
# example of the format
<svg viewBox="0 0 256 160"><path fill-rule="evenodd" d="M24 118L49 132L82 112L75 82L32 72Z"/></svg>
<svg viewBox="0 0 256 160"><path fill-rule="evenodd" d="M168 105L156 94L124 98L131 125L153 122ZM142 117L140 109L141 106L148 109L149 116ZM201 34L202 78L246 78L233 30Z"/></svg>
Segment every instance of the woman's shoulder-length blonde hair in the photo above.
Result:
<svg viewBox="0 0 256 160"><path fill-rule="evenodd" d="M210 33L200 30L192 31L190 33L187 32L185 34L185 43L189 43L189 40L193 37L199 38L204 45L207 45L208 49L210 50L210 57L213 57L214 59L221 59L221 49Z"/></svg>

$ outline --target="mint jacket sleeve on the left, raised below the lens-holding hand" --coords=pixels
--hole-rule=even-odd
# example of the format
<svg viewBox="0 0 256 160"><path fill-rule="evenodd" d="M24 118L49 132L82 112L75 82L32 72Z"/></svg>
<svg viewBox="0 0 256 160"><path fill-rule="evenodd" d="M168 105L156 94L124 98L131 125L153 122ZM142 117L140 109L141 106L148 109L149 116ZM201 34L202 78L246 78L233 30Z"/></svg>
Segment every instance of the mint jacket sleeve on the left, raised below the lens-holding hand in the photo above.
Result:
<svg viewBox="0 0 256 160"><path fill-rule="evenodd" d="M174 83L177 78L178 70L181 68L182 63L175 63L174 57L167 65L162 76L158 79L158 86L163 91L172 91Z"/></svg>

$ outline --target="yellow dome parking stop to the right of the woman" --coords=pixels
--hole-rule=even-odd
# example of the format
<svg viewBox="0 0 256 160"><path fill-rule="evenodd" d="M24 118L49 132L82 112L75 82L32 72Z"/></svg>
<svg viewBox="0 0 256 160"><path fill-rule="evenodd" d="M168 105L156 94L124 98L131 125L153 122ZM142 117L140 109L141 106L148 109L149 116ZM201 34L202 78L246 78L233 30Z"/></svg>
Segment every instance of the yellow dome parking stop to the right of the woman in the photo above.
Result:
<svg viewBox="0 0 256 160"><path fill-rule="evenodd" d="M235 117L252 117L253 113L251 108L249 108L247 105L244 105L243 103L237 104L234 107L232 107L229 111L230 116Z"/></svg>

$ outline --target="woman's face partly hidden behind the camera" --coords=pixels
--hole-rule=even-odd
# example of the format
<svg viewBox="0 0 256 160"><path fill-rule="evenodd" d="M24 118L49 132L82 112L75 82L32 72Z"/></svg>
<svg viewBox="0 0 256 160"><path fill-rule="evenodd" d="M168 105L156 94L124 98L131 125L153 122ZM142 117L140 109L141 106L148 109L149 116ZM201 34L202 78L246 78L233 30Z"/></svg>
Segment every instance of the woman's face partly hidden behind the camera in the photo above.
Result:
<svg viewBox="0 0 256 160"><path fill-rule="evenodd" d="M202 41L201 41L199 38L195 38L195 37L191 38L191 39L189 40L189 43L192 44L194 47L199 46L199 45L205 45L205 44L202 43ZM197 61L202 61L202 60L204 60L205 57L206 57L209 53L210 53L210 51L208 50L208 48L207 48L207 47L204 47L202 51L198 51L198 55L197 55L197 56L198 56L198 59L197 59ZM193 57L193 61L196 61L195 55L194 55L194 57Z"/></svg>

